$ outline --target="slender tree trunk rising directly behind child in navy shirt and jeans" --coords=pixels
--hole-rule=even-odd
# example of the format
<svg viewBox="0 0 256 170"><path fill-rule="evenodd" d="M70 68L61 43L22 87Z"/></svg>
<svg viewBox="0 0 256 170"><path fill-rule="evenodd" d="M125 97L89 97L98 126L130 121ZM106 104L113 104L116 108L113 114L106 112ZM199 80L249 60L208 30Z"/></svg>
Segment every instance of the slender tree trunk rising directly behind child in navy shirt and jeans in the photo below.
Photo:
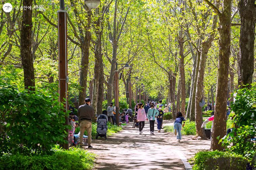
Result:
<svg viewBox="0 0 256 170"><path fill-rule="evenodd" d="M185 117L186 111L185 111L185 106L186 106L186 83L185 83L185 69L184 69L184 49L183 49L183 32L182 30L180 31L180 36L179 36L179 47L180 47L180 65L179 65L179 70L180 70L180 90L181 90L181 109L180 112L182 115Z"/></svg>

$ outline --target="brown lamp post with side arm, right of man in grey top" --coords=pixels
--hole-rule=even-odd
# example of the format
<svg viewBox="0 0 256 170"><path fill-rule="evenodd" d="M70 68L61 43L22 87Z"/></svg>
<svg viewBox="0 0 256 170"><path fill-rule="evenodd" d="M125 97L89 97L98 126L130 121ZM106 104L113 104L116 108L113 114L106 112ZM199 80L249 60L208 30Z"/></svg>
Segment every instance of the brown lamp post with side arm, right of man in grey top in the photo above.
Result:
<svg viewBox="0 0 256 170"><path fill-rule="evenodd" d="M130 66L128 65L128 63L125 64L118 64L116 62L116 70L115 70L115 105L116 105L116 125L119 126L119 87L118 87L118 69L117 66L118 65L125 65L124 68L125 69L129 69Z"/></svg>

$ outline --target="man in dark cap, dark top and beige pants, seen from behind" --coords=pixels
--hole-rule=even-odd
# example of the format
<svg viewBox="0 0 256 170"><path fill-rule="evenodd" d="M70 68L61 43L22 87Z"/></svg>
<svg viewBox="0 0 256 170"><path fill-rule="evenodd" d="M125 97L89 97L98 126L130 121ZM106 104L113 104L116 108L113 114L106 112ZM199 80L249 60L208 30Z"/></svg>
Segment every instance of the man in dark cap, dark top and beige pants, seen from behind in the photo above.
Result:
<svg viewBox="0 0 256 170"><path fill-rule="evenodd" d="M92 119L94 117L94 109L90 105L91 99L86 98L85 104L78 108L78 122L80 124L79 145L83 145L83 137L86 130L88 135L88 148L92 148Z"/></svg>

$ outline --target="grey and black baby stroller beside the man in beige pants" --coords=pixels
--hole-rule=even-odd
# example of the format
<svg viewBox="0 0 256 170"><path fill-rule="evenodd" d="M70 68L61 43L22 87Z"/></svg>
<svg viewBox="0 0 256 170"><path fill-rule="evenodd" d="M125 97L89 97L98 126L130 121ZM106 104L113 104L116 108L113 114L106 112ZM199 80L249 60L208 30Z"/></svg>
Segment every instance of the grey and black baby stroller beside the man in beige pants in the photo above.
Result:
<svg viewBox="0 0 256 170"><path fill-rule="evenodd" d="M98 137L107 139L107 116L103 114L97 117L97 134L95 138L98 139Z"/></svg>

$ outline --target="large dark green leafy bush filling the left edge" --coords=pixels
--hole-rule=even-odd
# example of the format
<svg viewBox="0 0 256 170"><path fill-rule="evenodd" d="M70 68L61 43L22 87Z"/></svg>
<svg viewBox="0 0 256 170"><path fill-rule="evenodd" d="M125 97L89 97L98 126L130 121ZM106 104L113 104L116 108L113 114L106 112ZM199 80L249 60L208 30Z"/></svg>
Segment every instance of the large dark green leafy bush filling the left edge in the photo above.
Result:
<svg viewBox="0 0 256 170"><path fill-rule="evenodd" d="M43 91L43 90L41 90ZM19 91L0 82L0 156L3 153L45 154L67 142L63 103L46 92Z"/></svg>

